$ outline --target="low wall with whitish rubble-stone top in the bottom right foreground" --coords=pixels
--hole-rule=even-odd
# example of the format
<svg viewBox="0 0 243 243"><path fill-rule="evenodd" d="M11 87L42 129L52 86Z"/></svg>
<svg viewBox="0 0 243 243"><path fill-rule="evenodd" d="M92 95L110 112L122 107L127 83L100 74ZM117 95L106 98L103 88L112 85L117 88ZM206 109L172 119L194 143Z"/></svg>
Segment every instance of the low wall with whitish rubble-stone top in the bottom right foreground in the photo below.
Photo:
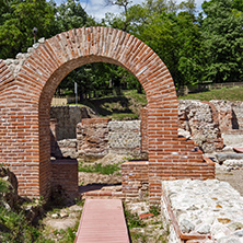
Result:
<svg viewBox="0 0 243 243"><path fill-rule="evenodd" d="M218 180L162 181L170 243L242 242L243 197Z"/></svg>

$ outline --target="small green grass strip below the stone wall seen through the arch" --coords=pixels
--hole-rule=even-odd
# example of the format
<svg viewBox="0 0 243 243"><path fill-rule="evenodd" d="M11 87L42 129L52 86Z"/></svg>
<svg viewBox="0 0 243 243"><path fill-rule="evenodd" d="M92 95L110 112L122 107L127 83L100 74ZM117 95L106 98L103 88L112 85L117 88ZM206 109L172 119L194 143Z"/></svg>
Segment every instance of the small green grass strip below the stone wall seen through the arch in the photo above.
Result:
<svg viewBox="0 0 243 243"><path fill-rule="evenodd" d="M79 172L88 172L88 173L101 173L103 175L111 175L114 172L120 170L120 163L117 164L106 164L102 165L102 163L83 165L83 163L79 163Z"/></svg>

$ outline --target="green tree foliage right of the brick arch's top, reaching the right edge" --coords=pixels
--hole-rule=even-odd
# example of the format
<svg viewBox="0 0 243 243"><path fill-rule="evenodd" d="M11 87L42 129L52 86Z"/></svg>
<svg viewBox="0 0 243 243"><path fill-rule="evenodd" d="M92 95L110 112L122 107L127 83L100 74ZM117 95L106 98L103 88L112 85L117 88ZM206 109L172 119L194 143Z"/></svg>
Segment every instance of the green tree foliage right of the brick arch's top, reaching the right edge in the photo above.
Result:
<svg viewBox="0 0 243 243"><path fill-rule="evenodd" d="M243 7L240 0L210 0L196 19L196 4L187 0L146 0L103 23L121 28L148 44L165 62L176 86L239 81L243 78ZM125 18L126 16L126 18Z"/></svg>

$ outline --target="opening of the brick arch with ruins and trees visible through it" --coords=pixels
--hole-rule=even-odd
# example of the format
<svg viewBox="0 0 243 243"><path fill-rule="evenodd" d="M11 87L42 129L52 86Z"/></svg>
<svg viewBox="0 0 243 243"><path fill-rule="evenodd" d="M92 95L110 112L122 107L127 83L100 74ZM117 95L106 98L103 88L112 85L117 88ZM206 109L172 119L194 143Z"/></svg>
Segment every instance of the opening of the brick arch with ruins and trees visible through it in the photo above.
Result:
<svg viewBox="0 0 243 243"><path fill-rule="evenodd" d="M78 161L80 193L114 185L120 190L121 163L148 159L141 148L146 105L141 84L119 66L95 62L72 70L51 101L51 163Z"/></svg>

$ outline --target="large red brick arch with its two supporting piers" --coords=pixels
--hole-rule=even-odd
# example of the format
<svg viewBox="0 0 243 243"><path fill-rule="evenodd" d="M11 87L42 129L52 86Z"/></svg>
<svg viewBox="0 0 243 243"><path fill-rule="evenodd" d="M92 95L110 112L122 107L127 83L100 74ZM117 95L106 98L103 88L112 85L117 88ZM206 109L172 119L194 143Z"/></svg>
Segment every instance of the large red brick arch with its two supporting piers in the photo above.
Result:
<svg viewBox="0 0 243 243"><path fill-rule="evenodd" d="M49 109L57 85L73 69L99 61L127 69L146 91L150 199L160 197L161 180L213 177L194 143L177 136L177 97L166 66L135 36L108 27L71 30L34 45L22 59L0 60L0 155L22 195L45 195L50 187Z"/></svg>

